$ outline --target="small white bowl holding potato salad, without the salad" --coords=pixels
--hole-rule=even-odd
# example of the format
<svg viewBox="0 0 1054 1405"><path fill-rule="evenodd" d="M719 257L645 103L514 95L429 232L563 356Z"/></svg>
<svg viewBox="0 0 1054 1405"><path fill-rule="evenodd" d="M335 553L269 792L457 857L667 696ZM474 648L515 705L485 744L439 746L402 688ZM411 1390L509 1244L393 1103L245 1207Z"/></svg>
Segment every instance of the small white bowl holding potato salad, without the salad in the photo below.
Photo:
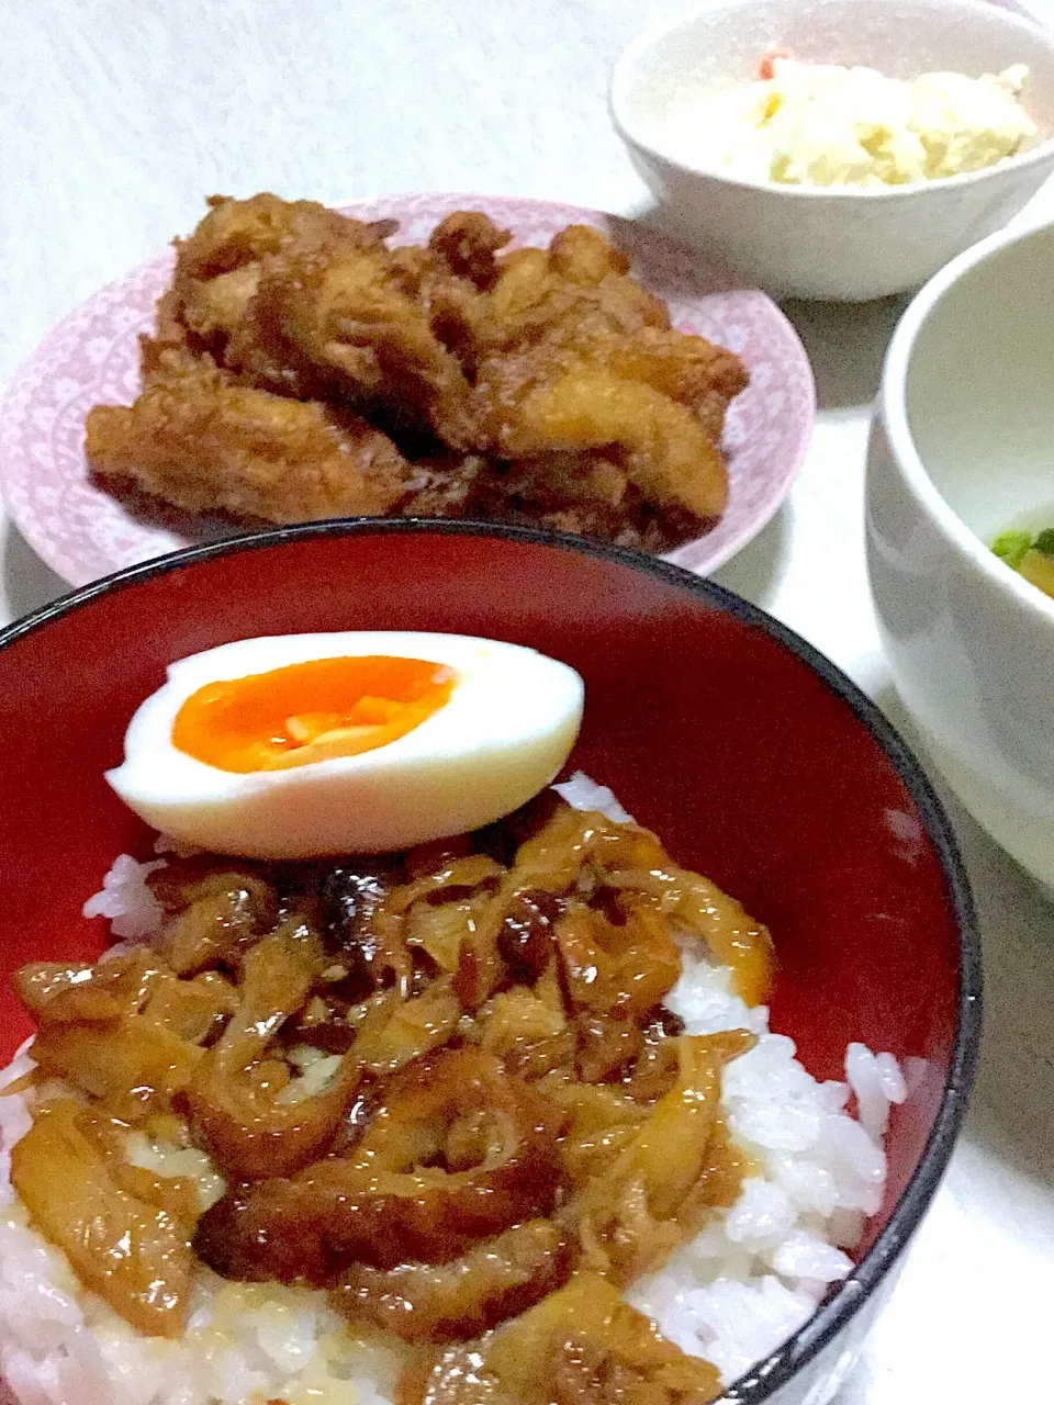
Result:
<svg viewBox="0 0 1054 1405"><path fill-rule="evenodd" d="M982 171L877 190L743 181L670 155L677 111L752 81L774 45L901 79L980 77L1026 63L1024 107L1043 140ZM631 44L616 63L610 105L679 235L777 295L861 301L918 287L1001 229L1054 170L1054 32L982 0L717 0Z"/></svg>

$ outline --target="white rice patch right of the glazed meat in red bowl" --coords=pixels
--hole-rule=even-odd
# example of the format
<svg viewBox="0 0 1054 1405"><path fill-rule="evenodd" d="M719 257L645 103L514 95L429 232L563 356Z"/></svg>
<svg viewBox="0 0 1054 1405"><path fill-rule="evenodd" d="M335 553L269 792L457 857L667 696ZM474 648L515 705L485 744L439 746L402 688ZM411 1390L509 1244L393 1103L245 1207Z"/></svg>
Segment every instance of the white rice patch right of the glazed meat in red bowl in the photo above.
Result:
<svg viewBox="0 0 1054 1405"><path fill-rule="evenodd" d="M732 993L727 967L689 951L683 962L666 1003L686 1034L757 1035L725 1068L721 1104L762 1175L746 1179L731 1210L627 1297L729 1384L797 1332L850 1272L843 1249L881 1205L881 1138L890 1103L904 1102L905 1090L892 1055L876 1057L863 1044L849 1045L846 1083L818 1083L794 1057L794 1041L769 1031L765 1006L750 1009ZM860 1120L847 1111L853 1093Z"/></svg>

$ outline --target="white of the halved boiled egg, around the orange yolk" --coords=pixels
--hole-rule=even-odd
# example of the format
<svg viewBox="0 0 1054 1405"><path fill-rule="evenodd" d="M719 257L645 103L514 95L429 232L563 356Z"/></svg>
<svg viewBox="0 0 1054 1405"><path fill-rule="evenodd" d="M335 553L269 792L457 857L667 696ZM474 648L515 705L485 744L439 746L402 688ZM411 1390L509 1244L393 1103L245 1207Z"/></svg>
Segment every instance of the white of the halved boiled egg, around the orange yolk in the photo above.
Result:
<svg viewBox="0 0 1054 1405"><path fill-rule="evenodd" d="M457 670L444 707L358 756L236 774L171 743L176 714L207 683L312 659L381 655ZM455 634L344 632L240 639L180 659L139 707L121 799L184 844L247 858L382 853L488 825L554 780L582 722L579 674L534 649Z"/></svg>

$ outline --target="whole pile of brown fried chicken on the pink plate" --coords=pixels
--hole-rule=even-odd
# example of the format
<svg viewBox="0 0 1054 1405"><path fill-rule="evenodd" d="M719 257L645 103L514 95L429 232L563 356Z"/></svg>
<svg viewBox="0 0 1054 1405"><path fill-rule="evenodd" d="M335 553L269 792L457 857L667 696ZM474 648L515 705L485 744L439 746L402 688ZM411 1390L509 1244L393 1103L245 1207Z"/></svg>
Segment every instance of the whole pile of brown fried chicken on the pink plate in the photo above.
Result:
<svg viewBox="0 0 1054 1405"><path fill-rule="evenodd" d="M389 247L311 201L214 197L176 242L143 392L87 454L193 511L534 521L663 551L728 503L721 434L748 382L670 326L600 233L507 251L478 211Z"/></svg>

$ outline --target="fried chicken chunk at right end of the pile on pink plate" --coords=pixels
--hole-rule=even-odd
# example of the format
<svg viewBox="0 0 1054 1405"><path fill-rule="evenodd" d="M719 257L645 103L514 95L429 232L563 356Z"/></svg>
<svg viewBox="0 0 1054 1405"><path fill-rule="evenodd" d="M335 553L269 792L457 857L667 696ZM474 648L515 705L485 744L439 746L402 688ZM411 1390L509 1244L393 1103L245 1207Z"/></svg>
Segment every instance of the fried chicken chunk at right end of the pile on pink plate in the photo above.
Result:
<svg viewBox="0 0 1054 1405"><path fill-rule="evenodd" d="M557 509L593 496L610 511L621 471L658 509L697 518L725 510L720 438L746 384L742 364L673 330L665 305L596 230L572 225L548 250L507 254L474 326L471 444L530 459L535 482L548 466L552 479L535 496ZM587 455L578 469L575 454ZM601 478L597 457L610 465Z"/></svg>

